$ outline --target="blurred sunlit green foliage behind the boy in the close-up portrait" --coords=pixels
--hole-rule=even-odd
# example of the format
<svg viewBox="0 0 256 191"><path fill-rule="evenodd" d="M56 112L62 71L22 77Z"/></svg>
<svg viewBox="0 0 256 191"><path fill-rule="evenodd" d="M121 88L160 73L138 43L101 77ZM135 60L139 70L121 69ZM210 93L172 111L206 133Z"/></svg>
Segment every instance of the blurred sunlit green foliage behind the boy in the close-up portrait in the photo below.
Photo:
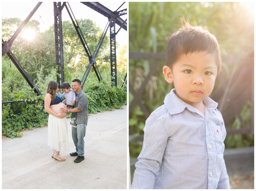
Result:
<svg viewBox="0 0 256 191"><path fill-rule="evenodd" d="M180 17L191 25L201 25L214 34L222 56L247 58L254 52L254 4L242 2L129 2L129 54L130 52L165 53L166 38L180 28ZM160 54L160 55L162 55ZM173 88L165 81L161 61L149 79L140 98L134 98L131 86L138 91L150 72L154 60L129 58L129 105L141 99L149 113L163 104L165 95ZM221 77L227 79L234 70L232 63L222 63ZM215 83L215 87L219 84ZM250 87L253 89L253 87ZM252 102L241 109L241 117L250 123ZM253 117L253 116L252 116ZM136 105L129 111L129 135L143 135L146 115ZM234 119L226 129L240 129L241 121ZM226 148L254 145L254 134L227 135ZM142 141L129 142L130 157L137 157Z"/></svg>

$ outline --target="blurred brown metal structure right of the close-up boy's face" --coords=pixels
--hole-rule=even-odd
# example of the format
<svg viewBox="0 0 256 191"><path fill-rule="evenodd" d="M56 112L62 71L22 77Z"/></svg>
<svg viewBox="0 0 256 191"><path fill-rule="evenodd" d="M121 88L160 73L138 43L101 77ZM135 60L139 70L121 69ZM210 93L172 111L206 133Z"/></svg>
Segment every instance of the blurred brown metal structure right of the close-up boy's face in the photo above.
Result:
<svg viewBox="0 0 256 191"><path fill-rule="evenodd" d="M218 110L222 113L225 124L237 116L241 129L227 129L227 135L254 133L254 53L248 58L224 57L222 62L232 63L235 67L228 79L218 75L221 87L211 94L211 98L219 103ZM241 109L247 101L251 102L251 122L248 126L241 117Z"/></svg>

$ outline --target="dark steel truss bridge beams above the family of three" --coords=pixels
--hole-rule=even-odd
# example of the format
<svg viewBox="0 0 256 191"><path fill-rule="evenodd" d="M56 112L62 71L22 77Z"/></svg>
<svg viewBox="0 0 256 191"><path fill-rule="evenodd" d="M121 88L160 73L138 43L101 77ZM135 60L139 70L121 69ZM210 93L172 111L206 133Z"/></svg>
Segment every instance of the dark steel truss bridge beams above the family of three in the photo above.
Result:
<svg viewBox="0 0 256 191"><path fill-rule="evenodd" d="M80 38L80 41L83 45L84 50L86 51L86 54L89 59L89 64L86 68L86 71L84 72L83 78L81 80L82 87L89 75L89 72L91 68L95 71L95 74L97 75L97 78L99 81L102 80L101 74L99 73L97 63L96 63L96 56L98 54L98 51L101 47L101 44L103 42L103 39L105 38L105 35L107 31L110 31L110 67L111 67L111 83L112 86L117 86L117 65L116 65L116 35L121 29L124 29L127 31L127 19L123 20L120 16L127 14L127 9L121 9L121 7L124 5L121 4L121 6L116 11L111 11L107 7L103 6L102 4L98 2L80 2L87 7L93 9L94 11L97 11L101 15L108 18L108 23L105 27L105 30L103 31L101 38L92 53L86 39L84 38L83 32L79 27L78 22L75 19L75 16L68 4L68 2L53 2L53 16L54 16L54 38L55 38L55 55L56 55L56 66L57 66L57 83L62 84L65 82L64 78L64 59L63 59L63 28L62 28L62 17L61 12L65 8L68 12L68 15L70 16L70 19L75 27L75 30ZM14 65L18 68L19 72L22 74L22 76L26 79L26 81L29 83L31 88L34 88L35 93L38 95L41 95L41 92L38 90L37 86L34 84L34 82L31 80L29 75L26 73L26 71L23 69L22 65L19 63L18 59L15 57L15 55L11 51L11 46L16 37L19 35L19 33L22 31L22 29L26 26L26 24L29 22L30 18L34 15L34 13L37 11L39 6L42 4L42 2L39 2L35 8L30 12L29 16L24 20L24 22L20 25L20 27L16 30L14 35L7 40L4 41L2 39L2 57L4 54L7 54L11 61L14 63ZM120 10L121 9L121 10ZM119 29L116 31L116 25L119 26ZM127 74L124 78L125 84L127 84ZM124 85L124 84L123 84Z"/></svg>

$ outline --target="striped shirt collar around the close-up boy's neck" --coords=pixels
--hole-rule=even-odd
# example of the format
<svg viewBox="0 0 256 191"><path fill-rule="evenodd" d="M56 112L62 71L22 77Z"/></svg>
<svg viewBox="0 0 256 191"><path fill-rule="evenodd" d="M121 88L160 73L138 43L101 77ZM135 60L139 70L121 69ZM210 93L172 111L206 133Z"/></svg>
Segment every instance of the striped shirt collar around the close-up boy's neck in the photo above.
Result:
<svg viewBox="0 0 256 191"><path fill-rule="evenodd" d="M166 108L170 114L181 113L184 111L185 108L187 108L191 112L198 112L196 108L178 98L177 95L174 93L175 91L175 88L172 89L170 93L165 96L164 100L164 104L166 105ZM206 108L216 109L218 106L218 103L213 101L210 97L205 98L203 102Z"/></svg>

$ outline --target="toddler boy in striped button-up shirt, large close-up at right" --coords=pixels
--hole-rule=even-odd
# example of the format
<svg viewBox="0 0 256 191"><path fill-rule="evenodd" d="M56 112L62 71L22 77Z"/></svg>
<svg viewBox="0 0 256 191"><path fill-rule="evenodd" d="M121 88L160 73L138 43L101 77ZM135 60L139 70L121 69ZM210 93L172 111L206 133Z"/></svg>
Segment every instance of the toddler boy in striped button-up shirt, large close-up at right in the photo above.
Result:
<svg viewBox="0 0 256 191"><path fill-rule="evenodd" d="M221 70L219 44L202 27L182 23L167 39L163 67L174 89L146 120L132 189L230 189L226 129L208 97Z"/></svg>

